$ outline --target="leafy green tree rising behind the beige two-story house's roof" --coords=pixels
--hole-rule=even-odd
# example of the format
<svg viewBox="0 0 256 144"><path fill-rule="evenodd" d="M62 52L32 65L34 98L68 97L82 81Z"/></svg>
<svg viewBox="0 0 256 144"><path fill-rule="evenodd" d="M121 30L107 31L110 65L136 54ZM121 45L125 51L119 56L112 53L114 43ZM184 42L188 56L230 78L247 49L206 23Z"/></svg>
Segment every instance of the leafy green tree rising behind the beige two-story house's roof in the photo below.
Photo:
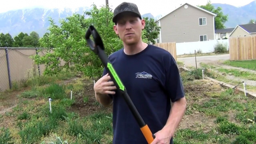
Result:
<svg viewBox="0 0 256 144"><path fill-rule="evenodd" d="M221 7L217 7L217 9L214 8L214 6L211 4L211 1L208 0L206 5L199 5L202 9L208 10L209 12L215 13L217 16L214 18L214 25L215 29L224 29L225 22L228 21L228 15L224 15L221 11Z"/></svg>

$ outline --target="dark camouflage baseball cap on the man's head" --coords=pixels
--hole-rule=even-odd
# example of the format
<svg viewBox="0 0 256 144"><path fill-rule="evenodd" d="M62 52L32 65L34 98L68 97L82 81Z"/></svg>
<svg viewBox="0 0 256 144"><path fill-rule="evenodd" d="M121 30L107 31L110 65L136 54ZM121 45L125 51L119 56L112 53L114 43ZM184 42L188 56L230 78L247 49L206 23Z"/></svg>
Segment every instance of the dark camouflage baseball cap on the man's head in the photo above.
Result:
<svg viewBox="0 0 256 144"><path fill-rule="evenodd" d="M123 13L123 12L132 12L141 19L141 15L140 15L140 12L139 12L138 7L137 7L136 4L123 2L115 8L114 17L113 17L112 21L114 23L116 23L116 19L117 19L118 15Z"/></svg>

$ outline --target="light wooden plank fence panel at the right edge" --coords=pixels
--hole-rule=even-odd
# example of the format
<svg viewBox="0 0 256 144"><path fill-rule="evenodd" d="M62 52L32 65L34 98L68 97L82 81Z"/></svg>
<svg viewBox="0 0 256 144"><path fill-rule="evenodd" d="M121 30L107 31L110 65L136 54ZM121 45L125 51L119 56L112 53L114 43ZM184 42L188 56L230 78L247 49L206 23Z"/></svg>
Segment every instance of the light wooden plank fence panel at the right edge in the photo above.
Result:
<svg viewBox="0 0 256 144"><path fill-rule="evenodd" d="M230 60L256 59L256 36L230 38Z"/></svg>

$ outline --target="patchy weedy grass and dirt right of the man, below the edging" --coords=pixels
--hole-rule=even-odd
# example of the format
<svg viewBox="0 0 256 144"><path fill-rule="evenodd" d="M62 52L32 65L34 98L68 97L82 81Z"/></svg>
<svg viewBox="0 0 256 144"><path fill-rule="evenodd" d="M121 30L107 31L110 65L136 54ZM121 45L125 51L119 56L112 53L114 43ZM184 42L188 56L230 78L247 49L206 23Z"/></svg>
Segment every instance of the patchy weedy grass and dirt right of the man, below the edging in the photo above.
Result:
<svg viewBox="0 0 256 144"><path fill-rule="evenodd" d="M174 143L255 144L255 99L207 83L185 82L188 126L178 128Z"/></svg>

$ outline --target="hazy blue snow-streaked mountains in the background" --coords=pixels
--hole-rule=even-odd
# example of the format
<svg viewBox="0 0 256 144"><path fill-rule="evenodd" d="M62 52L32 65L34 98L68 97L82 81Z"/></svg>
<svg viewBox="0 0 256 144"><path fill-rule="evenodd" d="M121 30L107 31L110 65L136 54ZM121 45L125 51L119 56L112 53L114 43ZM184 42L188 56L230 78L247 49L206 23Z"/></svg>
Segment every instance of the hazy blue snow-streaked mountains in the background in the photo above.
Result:
<svg viewBox="0 0 256 144"><path fill-rule="evenodd" d="M221 7L224 15L228 15L228 21L225 23L226 28L234 28L238 24L247 24L250 19L256 19L256 0L251 3L235 7L230 4L213 3L214 7ZM82 14L84 11L91 10L92 7L78 7L77 9L21 9L0 13L0 33L9 33L12 37L20 32L30 34L35 31L42 37L50 25L49 17L54 19L59 25L59 19L65 19L72 13ZM142 15L143 17L158 18L161 14L153 16L151 13ZM88 16L85 16L88 18Z"/></svg>

